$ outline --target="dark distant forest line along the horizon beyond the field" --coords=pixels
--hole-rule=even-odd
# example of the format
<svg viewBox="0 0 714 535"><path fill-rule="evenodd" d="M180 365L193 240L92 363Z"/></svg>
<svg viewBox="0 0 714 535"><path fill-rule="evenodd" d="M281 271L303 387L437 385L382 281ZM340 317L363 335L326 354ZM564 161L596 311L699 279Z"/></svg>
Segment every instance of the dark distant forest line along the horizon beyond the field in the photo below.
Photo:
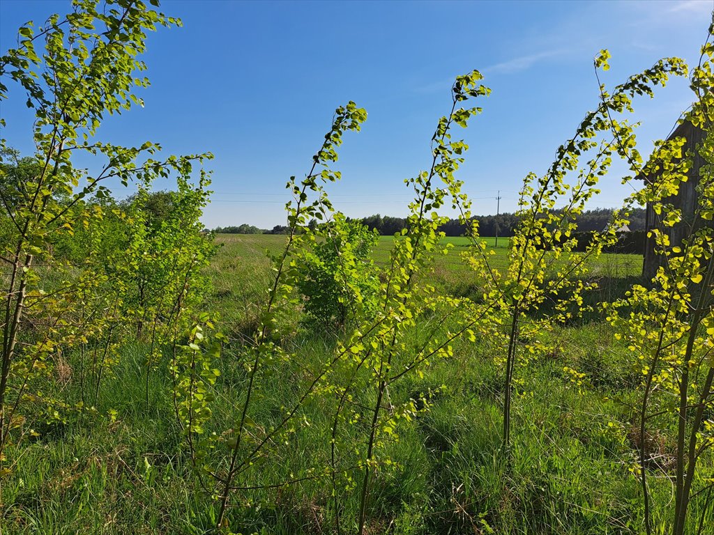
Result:
<svg viewBox="0 0 714 535"><path fill-rule="evenodd" d="M590 233L603 230L613 215L613 210L609 208L594 208L586 210L578 216L578 232ZM513 235L513 229L518 225L518 217L514 213L505 212L499 215L477 215L479 233L482 236L505 236ZM351 218L347 218L351 220ZM406 228L406 218L396 218L391 215L369 215L366 218L356 219L369 230L377 229L383 236L391 236L401 232ZM311 225L316 226L316 221L311 221ZM645 210L635 208L630 215L630 230L645 230ZM452 219L448 223L441 225L441 232L447 236L461 236L466 232L466 228L458 219ZM233 227L216 227L214 232L219 234L286 234L288 227L285 225L275 225L270 230L254 227L253 225L238 225Z"/></svg>

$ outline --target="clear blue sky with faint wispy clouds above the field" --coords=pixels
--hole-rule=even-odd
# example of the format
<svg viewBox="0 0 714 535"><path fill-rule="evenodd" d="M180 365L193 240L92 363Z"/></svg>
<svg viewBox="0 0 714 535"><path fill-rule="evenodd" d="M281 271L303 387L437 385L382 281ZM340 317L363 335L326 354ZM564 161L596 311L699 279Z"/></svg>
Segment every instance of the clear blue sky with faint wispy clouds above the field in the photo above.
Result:
<svg viewBox="0 0 714 535"><path fill-rule="evenodd" d="M41 25L68 7L69 0L0 0L0 49L14 46L25 21ZM695 63L714 1L164 0L161 9L183 27L150 36L145 107L109 118L100 138L155 141L165 153L211 151L216 193L206 225L271 228L285 220L286 180L309 170L334 108L349 100L367 109L368 121L340 150L336 208L353 217L405 215L403 179L428 165L453 77L473 68L493 93L481 102L483 115L459 129L471 146L459 176L475 213L496 212L497 190L501 211L513 210L523 176L542 173L596 106L593 56L610 49L603 78L610 85L663 56ZM654 101L637 103L643 151L667 136L690 94L675 80ZM0 115L2 136L27 154L32 118L24 101L11 93ZM593 206L620 203L628 192L622 173L605 180Z"/></svg>

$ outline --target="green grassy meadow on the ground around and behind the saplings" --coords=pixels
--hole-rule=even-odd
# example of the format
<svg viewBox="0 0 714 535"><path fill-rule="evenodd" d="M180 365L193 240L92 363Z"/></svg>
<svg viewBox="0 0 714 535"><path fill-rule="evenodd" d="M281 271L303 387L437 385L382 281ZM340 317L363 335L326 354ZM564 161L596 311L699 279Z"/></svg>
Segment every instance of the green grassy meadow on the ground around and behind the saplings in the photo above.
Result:
<svg viewBox="0 0 714 535"><path fill-rule="evenodd" d="M215 452L222 454L240 418L246 389L242 350L257 325L258 309L270 281L265 251L276 252L280 235L219 235L222 247L209 274L208 304L221 313L227 341L218 363L221 376L208 424ZM392 238L382 238L373 253L387 258ZM458 251L466 245L449 238L452 253L438 258L433 281L453 292L467 292L468 268ZM506 239L496 252L506 262ZM505 265L505 264L504 264ZM637 277L641 257L605 255L593 267L601 292L620 292ZM593 297L595 299L595 297ZM274 423L311 380L313 370L336 339L296 330L287 342L291 362L267 365L256 391L259 399L251 436ZM418 323L415 342L430 330ZM502 368L491 340L458 339L453 357L406 376L388 392L390 402L430 392L430 408L400 424L383 454L391 463L373 479L368 496L368 534L640 534L642 496L634 468L638 436L630 403L640 381L627 363L623 342L600 318L553 331L557 350L531 360L517 372L513 457L498 460L501 441ZM2 485L3 534L203 534L213 529L218 503L206 476L196 477L193 462L173 417L169 375L154 373L149 410L144 399L146 347L124 347L106 377L96 406L99 418L76 417L37 429L22 449L22 462ZM66 397L79 401L68 355L56 382ZM159 365L159 370L166 362ZM564 371L583 373L573 382ZM73 398L74 396L74 398ZM356 405L373 403L374 392L359 392ZM315 397L303 407L304 425L276 439L266 455L235 481L227 519L240 534L333 534L330 486L321 467L328 464L330 397ZM309 423L308 423L309 422ZM343 428L342 446L364 440L356 422ZM661 429L661 464L673 454L673 429ZM11 452L14 454L15 452ZM346 459L349 454L345 454ZM712 467L709 467L710 469ZM358 472L356 472L357 474ZM356 476L357 477L357 476ZM293 481L284 484L284 481ZM353 485L342 481L345 488ZM261 487L261 488L256 488ZM668 477L650 478L653 501L671 499ZM341 501L340 533L354 533L356 492ZM706 507L693 501L693 516ZM655 526L665 525L655 509ZM714 526L711 511L702 516ZM658 531L659 532L659 531ZM712 534L705 527L700 535Z"/></svg>

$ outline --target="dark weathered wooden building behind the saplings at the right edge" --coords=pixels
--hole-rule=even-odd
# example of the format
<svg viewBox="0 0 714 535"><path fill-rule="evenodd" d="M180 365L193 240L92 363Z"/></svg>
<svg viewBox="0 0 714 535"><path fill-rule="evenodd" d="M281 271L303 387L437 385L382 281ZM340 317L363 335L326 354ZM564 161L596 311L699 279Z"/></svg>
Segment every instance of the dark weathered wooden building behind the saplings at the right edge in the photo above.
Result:
<svg viewBox="0 0 714 535"><path fill-rule="evenodd" d="M683 153L685 151L692 151L694 153L693 165L690 168L688 174L688 180L686 182L680 183L679 191L677 195L673 195L670 198L663 199L664 203L670 203L676 208L682 210L682 220L673 227L663 227L660 225L659 221L662 215L655 214L652 206L647 205L645 212L645 230L648 232L653 228L660 228L663 232L667 233L670 239L670 245L681 245L682 240L687 238L694 230L699 228L703 224L712 225L711 221L704 221L701 218L696 217L696 211L698 208L698 198L696 187L700 180L700 170L704 165L704 158L700 153L695 150L703 142L705 137L705 131L701 128L693 126L692 123L685 122L680 124L675 131L669 136L668 140L673 138L685 138L686 143L683 147ZM638 178L645 179L648 181L653 180L655 176L643 176L640 175ZM664 214L663 214L664 215ZM655 253L655 240L654 238L647 238L645 242L645 258L643 261L643 275L648 279L655 276L658 267L663 263L662 255Z"/></svg>

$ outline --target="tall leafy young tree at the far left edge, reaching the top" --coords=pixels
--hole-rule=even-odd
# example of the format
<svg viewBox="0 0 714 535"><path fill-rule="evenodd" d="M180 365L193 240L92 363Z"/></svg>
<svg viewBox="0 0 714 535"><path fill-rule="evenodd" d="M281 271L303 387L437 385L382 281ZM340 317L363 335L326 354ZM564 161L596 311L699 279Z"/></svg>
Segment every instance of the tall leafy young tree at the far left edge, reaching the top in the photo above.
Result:
<svg viewBox="0 0 714 535"><path fill-rule="evenodd" d="M55 255L54 245L75 230L102 228L106 206L86 201L108 198L109 180L146 186L172 172L188 178L193 162L210 156L157 161L151 158L159 149L154 143L124 147L96 137L107 115L143 105L134 91L149 85L139 76L146 68L139 59L146 34L180 24L152 9L158 4L74 0L64 18L53 15L39 29L31 23L22 26L18 46L0 56L0 101L8 98L11 84L26 93L26 105L35 113L36 146L31 162L18 162L29 162L29 179L15 180L9 170L12 165L20 168L6 161L6 141L0 141L0 184L15 185L3 187L1 199L7 237L0 243L0 262L7 276L0 291L0 463L6 447L19 442L40 414L61 418L54 409L44 410L61 407L61 400L36 388L35 379L49 374L52 357L79 348L84 362L84 348L93 344L92 358L101 365L126 323L121 308L127 281L121 275L131 272L131 266L114 265L108 272L106 258L94 247L108 233L88 238L91 247L72 270ZM4 126L1 119L0 124ZM74 168L78 153L95 158L96 172ZM3 474L10 470L11 464L0 466Z"/></svg>

